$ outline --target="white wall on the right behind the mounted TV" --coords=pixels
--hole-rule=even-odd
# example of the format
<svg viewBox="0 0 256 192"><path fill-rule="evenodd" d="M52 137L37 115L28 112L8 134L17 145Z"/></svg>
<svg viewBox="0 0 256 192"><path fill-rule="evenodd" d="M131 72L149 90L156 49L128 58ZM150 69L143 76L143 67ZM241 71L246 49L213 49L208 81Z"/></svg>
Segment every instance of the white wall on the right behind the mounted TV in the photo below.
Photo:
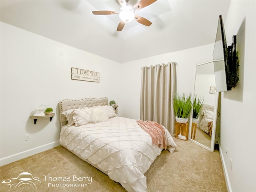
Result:
<svg viewBox="0 0 256 192"><path fill-rule="evenodd" d="M231 1L224 27L228 45L237 35L240 59L240 84L221 94L220 145L224 168L230 191L255 192L256 1Z"/></svg>

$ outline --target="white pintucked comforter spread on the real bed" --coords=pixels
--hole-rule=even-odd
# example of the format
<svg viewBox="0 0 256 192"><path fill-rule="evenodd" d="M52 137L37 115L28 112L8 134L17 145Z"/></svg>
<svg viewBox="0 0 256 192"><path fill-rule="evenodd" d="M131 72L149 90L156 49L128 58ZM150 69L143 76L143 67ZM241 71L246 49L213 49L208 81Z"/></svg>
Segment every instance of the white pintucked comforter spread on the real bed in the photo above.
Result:
<svg viewBox="0 0 256 192"><path fill-rule="evenodd" d="M166 132L170 152L176 144ZM136 120L114 117L107 122L84 126L63 126L60 144L96 166L128 192L145 192L144 173L160 155L162 148L152 145L152 138Z"/></svg>

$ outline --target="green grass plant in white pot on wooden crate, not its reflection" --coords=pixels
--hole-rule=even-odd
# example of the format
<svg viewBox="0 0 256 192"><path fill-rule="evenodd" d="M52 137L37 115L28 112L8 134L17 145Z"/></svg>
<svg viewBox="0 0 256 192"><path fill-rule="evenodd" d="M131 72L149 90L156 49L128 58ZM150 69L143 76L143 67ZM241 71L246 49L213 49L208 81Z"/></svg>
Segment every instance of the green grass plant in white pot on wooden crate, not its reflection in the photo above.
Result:
<svg viewBox="0 0 256 192"><path fill-rule="evenodd" d="M179 123L188 122L188 116L192 108L191 93L182 93L180 95L174 95L173 107L176 115L176 121Z"/></svg>

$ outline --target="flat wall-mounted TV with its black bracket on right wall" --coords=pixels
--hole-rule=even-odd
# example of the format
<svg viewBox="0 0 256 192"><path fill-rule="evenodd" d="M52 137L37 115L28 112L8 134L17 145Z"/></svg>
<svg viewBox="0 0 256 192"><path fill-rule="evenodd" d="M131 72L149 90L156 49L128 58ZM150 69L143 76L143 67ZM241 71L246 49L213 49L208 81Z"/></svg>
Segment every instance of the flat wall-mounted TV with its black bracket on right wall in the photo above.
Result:
<svg viewBox="0 0 256 192"><path fill-rule="evenodd" d="M236 87L239 80L238 52L236 52L236 36L227 47L226 34L222 16L219 16L218 28L213 50L216 91L228 91Z"/></svg>

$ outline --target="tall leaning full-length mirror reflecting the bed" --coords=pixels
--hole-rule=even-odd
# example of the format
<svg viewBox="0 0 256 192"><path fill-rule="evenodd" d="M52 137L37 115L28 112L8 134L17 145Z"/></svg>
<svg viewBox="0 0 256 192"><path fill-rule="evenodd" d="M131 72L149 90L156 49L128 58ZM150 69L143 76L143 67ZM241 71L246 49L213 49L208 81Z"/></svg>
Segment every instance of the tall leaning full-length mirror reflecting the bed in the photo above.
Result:
<svg viewBox="0 0 256 192"><path fill-rule="evenodd" d="M198 119L190 118L190 140L213 151L218 106L213 61L196 65L194 96L203 98L203 105Z"/></svg>

